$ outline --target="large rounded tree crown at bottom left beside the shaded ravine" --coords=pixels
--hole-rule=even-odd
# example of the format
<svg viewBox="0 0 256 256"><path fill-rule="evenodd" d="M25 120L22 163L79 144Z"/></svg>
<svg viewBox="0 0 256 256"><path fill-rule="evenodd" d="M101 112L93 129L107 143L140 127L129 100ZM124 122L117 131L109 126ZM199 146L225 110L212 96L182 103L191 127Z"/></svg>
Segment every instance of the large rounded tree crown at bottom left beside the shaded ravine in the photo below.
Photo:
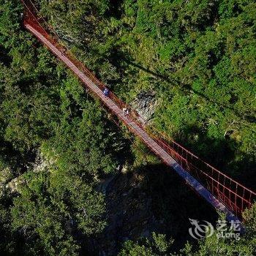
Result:
<svg viewBox="0 0 256 256"><path fill-rule="evenodd" d="M27 173L26 181L29 184L23 186L11 209L12 227L25 238L39 238L46 255L78 255L76 230L89 236L105 226L102 195L78 176L54 170Z"/></svg>

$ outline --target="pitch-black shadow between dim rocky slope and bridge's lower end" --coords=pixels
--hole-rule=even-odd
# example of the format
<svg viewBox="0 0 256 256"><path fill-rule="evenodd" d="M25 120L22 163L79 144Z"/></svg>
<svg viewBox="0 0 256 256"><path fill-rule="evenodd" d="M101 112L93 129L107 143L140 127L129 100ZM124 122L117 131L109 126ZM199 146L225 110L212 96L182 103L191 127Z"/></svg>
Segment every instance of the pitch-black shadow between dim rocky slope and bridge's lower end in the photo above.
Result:
<svg viewBox="0 0 256 256"><path fill-rule="evenodd" d="M146 174L145 187L152 200L154 216L163 223L159 233L173 237L176 249L181 249L186 241L192 241L188 233L189 218L207 220L213 225L217 221L214 208L170 167L149 165L140 171Z"/></svg>

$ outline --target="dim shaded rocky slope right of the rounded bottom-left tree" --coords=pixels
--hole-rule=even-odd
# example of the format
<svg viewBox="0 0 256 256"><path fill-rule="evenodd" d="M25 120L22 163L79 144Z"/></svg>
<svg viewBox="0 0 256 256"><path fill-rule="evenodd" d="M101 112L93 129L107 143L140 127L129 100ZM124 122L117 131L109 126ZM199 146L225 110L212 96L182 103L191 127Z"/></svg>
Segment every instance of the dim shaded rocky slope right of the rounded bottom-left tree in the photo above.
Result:
<svg viewBox="0 0 256 256"><path fill-rule="evenodd" d="M100 256L116 255L127 240L149 238L162 225L151 211L151 198L143 186L143 176L138 173L120 173L106 180L108 226L94 241Z"/></svg>

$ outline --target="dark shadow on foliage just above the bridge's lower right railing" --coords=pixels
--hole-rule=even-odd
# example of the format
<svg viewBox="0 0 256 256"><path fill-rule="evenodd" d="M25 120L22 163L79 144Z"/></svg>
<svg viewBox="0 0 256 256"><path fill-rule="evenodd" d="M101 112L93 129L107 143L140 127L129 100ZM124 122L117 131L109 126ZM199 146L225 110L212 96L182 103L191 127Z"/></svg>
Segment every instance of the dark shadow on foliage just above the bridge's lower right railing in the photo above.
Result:
<svg viewBox="0 0 256 256"><path fill-rule="evenodd" d="M229 136L211 138L198 127L189 125L184 129L184 137L174 140L245 187L256 189L255 157L239 151L236 140Z"/></svg>

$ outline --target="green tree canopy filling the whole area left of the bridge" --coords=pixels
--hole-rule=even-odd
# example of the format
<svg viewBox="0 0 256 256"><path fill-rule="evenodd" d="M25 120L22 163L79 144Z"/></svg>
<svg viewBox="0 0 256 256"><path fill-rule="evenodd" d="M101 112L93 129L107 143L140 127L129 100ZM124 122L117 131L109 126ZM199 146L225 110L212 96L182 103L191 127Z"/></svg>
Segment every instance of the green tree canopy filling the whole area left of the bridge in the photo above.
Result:
<svg viewBox="0 0 256 256"><path fill-rule="evenodd" d="M1 252L79 255L106 225L95 187L116 172L121 134L24 31L19 1L0 6ZM49 160L42 170L35 170L38 154ZM18 184L12 192L11 180Z"/></svg>

